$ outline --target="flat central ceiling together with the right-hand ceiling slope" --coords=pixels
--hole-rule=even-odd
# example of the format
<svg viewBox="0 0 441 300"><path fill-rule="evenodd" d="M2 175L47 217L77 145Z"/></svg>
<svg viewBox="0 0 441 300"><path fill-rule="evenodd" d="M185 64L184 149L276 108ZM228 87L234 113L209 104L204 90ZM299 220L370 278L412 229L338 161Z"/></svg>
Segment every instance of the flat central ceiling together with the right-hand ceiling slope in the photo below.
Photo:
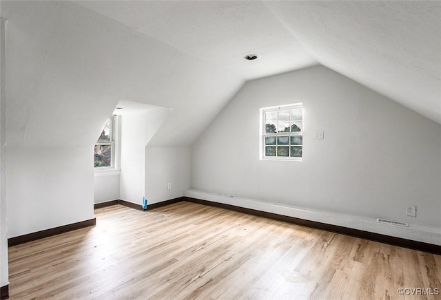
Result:
<svg viewBox="0 0 441 300"><path fill-rule="evenodd" d="M441 123L439 1L77 3L245 80L318 62Z"/></svg>

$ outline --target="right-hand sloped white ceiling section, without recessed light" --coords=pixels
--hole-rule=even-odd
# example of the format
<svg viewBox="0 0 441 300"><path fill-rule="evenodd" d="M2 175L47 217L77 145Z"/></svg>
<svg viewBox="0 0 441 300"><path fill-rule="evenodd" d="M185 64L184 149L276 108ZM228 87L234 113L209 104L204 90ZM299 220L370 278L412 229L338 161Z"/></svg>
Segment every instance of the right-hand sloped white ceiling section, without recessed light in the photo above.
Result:
<svg viewBox="0 0 441 300"><path fill-rule="evenodd" d="M317 61L441 123L440 1L269 1Z"/></svg>

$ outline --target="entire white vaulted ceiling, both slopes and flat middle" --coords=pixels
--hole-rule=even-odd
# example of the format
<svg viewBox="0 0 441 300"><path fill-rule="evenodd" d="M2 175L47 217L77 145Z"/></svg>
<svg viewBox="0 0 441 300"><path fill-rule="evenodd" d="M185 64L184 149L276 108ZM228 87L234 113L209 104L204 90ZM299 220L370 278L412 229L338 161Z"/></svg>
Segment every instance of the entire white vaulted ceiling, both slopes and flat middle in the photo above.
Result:
<svg viewBox="0 0 441 300"><path fill-rule="evenodd" d="M441 124L439 1L0 7L8 19L9 144L93 143L121 100L173 108L152 143L192 144L246 81L317 64ZM78 121L84 128L66 135Z"/></svg>

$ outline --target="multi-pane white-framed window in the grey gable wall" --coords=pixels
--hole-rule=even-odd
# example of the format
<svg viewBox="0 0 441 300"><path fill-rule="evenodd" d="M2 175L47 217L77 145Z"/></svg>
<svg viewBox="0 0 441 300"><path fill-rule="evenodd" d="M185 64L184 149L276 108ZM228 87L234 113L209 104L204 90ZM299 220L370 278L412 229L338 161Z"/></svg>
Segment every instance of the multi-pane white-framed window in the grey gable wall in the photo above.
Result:
<svg viewBox="0 0 441 300"><path fill-rule="evenodd" d="M302 103L260 109L260 159L302 160Z"/></svg>

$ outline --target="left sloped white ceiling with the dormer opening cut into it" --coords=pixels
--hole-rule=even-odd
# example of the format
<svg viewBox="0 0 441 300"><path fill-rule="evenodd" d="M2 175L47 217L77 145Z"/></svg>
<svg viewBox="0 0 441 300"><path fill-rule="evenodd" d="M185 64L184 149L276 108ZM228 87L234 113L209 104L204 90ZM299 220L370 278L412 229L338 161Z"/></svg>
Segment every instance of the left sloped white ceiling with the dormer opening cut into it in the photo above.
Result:
<svg viewBox="0 0 441 300"><path fill-rule="evenodd" d="M8 147L93 145L120 100L173 108L156 144L191 144L243 79L68 1L5 1Z"/></svg>

